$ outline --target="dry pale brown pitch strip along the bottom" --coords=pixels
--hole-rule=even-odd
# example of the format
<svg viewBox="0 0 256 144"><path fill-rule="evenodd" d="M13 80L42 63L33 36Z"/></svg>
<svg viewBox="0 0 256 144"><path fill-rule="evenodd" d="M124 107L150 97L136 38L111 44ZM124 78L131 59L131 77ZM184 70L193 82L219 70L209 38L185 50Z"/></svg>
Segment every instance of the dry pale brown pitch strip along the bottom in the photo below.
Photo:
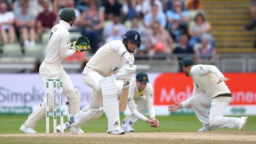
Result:
<svg viewBox="0 0 256 144"><path fill-rule="evenodd" d="M47 144L255 144L256 131L210 131L210 132L169 132L169 133L38 133L0 135L4 143L47 143Z"/></svg>

